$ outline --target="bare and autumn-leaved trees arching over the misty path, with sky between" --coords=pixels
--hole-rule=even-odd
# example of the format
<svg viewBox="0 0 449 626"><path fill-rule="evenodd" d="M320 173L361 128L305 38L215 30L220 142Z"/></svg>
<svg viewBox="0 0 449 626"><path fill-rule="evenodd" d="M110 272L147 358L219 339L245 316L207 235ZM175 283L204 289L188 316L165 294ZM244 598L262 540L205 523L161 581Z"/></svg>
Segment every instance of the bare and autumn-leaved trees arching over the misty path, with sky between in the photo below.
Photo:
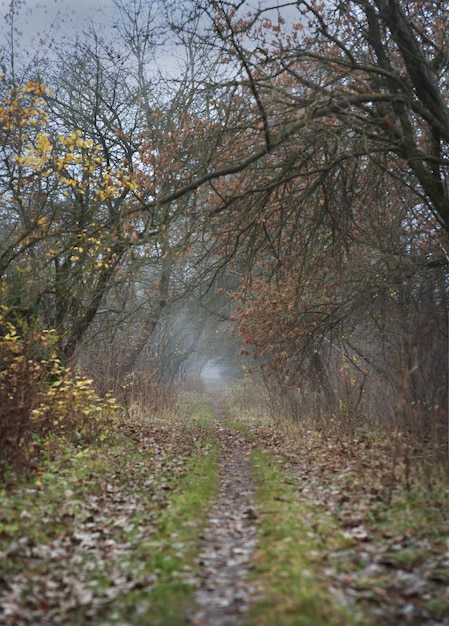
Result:
<svg viewBox="0 0 449 626"><path fill-rule="evenodd" d="M51 331L100 393L213 367L444 446L449 3L112 4L3 9L3 368Z"/></svg>

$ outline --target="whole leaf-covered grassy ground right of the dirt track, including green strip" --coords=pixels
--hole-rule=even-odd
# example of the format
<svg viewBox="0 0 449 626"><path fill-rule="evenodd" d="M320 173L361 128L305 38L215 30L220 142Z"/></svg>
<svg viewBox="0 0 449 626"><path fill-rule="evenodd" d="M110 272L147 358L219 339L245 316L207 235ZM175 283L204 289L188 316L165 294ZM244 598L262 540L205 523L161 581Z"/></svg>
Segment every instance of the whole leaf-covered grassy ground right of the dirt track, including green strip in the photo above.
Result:
<svg viewBox="0 0 449 626"><path fill-rule="evenodd" d="M445 466L428 472L407 442L398 450L376 432L319 432L230 409L259 449L254 577L264 600L250 624L445 623Z"/></svg>

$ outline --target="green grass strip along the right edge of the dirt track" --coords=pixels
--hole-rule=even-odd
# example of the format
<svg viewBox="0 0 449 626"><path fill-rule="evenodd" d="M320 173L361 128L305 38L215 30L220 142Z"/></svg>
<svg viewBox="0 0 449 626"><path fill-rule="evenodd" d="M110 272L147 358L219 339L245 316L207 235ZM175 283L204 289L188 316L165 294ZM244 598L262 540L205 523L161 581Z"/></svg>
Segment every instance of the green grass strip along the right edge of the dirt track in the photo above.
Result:
<svg viewBox="0 0 449 626"><path fill-rule="evenodd" d="M340 604L320 575L323 551L338 552L347 541L332 519L299 502L287 476L255 450L255 502L260 515L253 578L262 600L248 614L254 626L349 626L361 623Z"/></svg>

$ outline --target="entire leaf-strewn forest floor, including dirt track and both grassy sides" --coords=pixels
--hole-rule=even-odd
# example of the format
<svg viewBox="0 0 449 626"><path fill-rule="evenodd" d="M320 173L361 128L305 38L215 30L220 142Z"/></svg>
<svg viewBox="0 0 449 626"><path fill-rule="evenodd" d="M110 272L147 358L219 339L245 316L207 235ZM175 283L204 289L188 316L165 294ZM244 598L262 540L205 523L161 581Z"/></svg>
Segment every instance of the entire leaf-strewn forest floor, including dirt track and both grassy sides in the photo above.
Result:
<svg viewBox="0 0 449 626"><path fill-rule="evenodd" d="M449 625L449 479L400 443L190 394L59 447L0 492L0 624Z"/></svg>

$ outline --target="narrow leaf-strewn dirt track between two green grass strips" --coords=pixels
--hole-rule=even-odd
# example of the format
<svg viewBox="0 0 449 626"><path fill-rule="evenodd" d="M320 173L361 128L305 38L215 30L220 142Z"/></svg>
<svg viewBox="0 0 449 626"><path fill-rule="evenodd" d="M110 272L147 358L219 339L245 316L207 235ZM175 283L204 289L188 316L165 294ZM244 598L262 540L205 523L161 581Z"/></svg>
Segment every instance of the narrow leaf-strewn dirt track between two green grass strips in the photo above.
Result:
<svg viewBox="0 0 449 626"><path fill-rule="evenodd" d="M203 569L195 594L200 609L191 621L195 626L237 626L255 592L246 579L257 542L257 516L251 504L250 445L220 420L215 428L223 445L220 491L202 537L199 562Z"/></svg>

